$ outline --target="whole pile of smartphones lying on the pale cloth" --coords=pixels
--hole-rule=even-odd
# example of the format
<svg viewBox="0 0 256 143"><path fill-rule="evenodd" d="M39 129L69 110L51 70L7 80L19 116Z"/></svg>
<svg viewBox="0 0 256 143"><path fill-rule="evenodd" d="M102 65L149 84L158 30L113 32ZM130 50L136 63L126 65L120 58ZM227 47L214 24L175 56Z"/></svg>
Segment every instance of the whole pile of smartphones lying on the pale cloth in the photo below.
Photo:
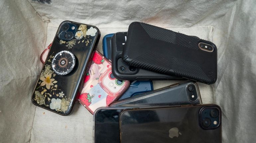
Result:
<svg viewBox="0 0 256 143"><path fill-rule="evenodd" d="M68 115L79 101L93 114L95 143L221 142L221 109L202 104L196 84L217 80L212 42L141 22L105 35L104 55L99 38L95 26L62 22L32 102ZM154 90L152 80L181 82Z"/></svg>

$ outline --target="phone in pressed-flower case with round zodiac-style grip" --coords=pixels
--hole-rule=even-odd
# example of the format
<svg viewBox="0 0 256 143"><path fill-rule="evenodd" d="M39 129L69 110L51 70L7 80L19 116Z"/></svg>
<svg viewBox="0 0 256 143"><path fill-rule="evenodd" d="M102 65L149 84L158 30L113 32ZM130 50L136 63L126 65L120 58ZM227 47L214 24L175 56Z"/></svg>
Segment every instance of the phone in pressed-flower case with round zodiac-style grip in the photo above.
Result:
<svg viewBox="0 0 256 143"><path fill-rule="evenodd" d="M95 26L63 21L49 48L32 103L68 115L99 38L100 31Z"/></svg>

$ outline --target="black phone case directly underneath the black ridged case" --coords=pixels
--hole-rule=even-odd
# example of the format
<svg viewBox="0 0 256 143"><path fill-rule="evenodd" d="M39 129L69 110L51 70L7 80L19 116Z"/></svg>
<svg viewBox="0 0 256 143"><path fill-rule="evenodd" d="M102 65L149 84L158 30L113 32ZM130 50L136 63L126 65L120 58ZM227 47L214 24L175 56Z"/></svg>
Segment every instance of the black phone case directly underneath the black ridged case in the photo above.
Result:
<svg viewBox="0 0 256 143"><path fill-rule="evenodd" d="M122 59L122 52L127 32L117 32L111 39L112 52L112 73L119 80L185 80L184 78L156 73L153 71L137 68L134 73L122 73L118 70L120 66L126 66L129 71L129 65Z"/></svg>

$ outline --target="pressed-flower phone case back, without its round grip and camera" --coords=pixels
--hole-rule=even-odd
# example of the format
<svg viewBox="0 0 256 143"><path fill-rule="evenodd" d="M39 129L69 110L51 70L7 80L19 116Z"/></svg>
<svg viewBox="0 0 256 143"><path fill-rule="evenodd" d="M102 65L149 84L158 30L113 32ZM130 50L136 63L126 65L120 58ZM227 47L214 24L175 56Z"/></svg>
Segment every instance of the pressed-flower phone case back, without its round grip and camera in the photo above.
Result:
<svg viewBox="0 0 256 143"><path fill-rule="evenodd" d="M58 32L65 22L74 24L76 32L83 33L83 37L75 38L76 36L74 36L69 41L59 39ZM88 30L90 30L89 34L87 33ZM86 69L89 69L89 61L92 52L96 50L99 38L100 31L95 26L73 21L63 21L58 28L38 78L31 98L32 103L59 115L68 115L72 110L79 88L82 88L80 84L82 83L84 72ZM54 56L61 51L72 53L75 57L74 68L67 75L56 74L52 67Z"/></svg>

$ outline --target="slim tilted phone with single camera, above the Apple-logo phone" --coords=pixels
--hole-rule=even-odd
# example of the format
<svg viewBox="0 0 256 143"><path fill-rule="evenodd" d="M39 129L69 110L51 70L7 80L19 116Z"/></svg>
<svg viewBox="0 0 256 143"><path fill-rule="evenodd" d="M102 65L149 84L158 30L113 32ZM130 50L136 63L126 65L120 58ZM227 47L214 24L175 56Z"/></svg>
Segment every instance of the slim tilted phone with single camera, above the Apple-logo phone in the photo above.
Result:
<svg viewBox="0 0 256 143"><path fill-rule="evenodd" d="M189 94L188 87L194 90ZM193 96L190 97L190 96ZM198 85L194 82L183 82L173 84L161 89L149 91L134 97L114 101L109 106L172 106L202 104Z"/></svg>

